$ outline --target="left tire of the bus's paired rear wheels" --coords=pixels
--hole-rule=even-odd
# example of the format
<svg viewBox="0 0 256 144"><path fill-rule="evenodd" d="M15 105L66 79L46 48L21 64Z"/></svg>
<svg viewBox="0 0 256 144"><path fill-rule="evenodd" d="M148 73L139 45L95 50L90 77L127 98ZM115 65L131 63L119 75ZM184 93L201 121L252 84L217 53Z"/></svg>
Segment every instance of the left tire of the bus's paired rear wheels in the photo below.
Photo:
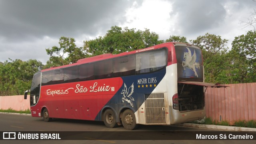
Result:
<svg viewBox="0 0 256 144"><path fill-rule="evenodd" d="M117 127L116 115L112 109L107 109L103 114L103 121L106 127L115 128Z"/></svg>

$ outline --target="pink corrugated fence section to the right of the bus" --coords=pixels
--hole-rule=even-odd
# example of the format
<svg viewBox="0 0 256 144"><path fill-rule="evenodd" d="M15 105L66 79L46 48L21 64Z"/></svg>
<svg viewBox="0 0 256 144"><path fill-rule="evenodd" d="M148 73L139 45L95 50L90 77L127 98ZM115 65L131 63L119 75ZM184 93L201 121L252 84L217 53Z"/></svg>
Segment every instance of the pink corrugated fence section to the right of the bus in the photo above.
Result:
<svg viewBox="0 0 256 144"><path fill-rule="evenodd" d="M206 116L230 124L236 120L256 120L256 83L227 86L230 87L206 90Z"/></svg>

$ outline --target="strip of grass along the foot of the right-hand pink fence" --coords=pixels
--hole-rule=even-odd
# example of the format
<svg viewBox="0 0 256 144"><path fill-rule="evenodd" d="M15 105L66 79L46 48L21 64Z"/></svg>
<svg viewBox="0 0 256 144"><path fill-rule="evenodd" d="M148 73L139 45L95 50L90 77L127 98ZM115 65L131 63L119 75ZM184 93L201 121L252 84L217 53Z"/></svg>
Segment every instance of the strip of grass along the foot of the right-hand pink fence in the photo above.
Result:
<svg viewBox="0 0 256 144"><path fill-rule="evenodd" d="M198 122L197 120L189 122L193 124L214 124L214 125L221 125L221 126L232 126L227 120L222 120L221 122L214 120L212 121L212 118L205 118L201 122ZM246 128L256 128L256 120L237 120L234 122L234 126L238 127L246 127Z"/></svg>

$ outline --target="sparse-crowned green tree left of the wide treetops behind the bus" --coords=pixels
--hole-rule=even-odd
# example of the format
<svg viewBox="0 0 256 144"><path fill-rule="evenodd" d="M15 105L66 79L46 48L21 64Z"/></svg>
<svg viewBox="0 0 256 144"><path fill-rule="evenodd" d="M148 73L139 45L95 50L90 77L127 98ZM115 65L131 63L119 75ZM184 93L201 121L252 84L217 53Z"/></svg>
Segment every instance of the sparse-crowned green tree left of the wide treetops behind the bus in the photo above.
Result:
<svg viewBox="0 0 256 144"><path fill-rule="evenodd" d="M60 37L59 44L60 47L53 46L46 49L46 53L50 55L50 58L44 68L75 63L79 59L86 57L83 48L76 46L74 38Z"/></svg>

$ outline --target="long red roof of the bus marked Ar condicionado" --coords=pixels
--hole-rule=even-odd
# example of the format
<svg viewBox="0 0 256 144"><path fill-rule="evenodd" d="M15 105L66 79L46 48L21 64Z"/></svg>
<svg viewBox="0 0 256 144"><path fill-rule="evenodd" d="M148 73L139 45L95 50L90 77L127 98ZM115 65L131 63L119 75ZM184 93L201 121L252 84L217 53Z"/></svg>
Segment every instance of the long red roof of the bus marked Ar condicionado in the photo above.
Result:
<svg viewBox="0 0 256 144"><path fill-rule="evenodd" d="M160 49L162 47L170 48L172 45L175 45L175 44L184 44L184 45L192 46L190 44L180 43L180 42L161 43L161 44L158 44L158 45L154 45L152 47L137 49L137 50L134 50L134 51L123 52L123 53L119 53L119 54L106 53L106 54L102 54L102 55L96 55L96 56L93 56L93 57L87 57L87 58L84 58L84 59L79 59L76 63L72 63L72 64L68 64L68 65L62 65L62 66L58 66L58 67L51 67L51 68L48 68L48 69L43 69L43 70L41 70L41 72L50 71L50 70L53 70L53 69L60 69L60 68L64 68L64 67L71 67L71 66L74 66L74 65L81 65L81 64L84 64L84 63L92 63L92 62L101 61L101 60L104 60L104 59L122 57L122 56L125 56L125 55L131 55L131 54L134 54L134 53L140 53L140 52Z"/></svg>

